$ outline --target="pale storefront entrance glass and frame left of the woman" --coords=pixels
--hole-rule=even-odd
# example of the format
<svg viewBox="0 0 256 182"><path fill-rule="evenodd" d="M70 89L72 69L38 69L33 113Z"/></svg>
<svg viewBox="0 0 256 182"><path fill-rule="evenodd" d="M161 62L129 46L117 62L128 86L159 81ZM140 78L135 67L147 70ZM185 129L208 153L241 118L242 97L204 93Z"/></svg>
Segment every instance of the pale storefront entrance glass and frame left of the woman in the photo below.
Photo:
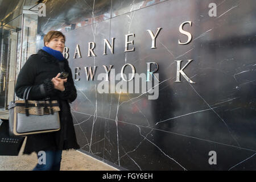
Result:
<svg viewBox="0 0 256 182"><path fill-rule="evenodd" d="M15 81L19 71L28 57L36 52L37 17L34 14L22 14L1 27L0 108L2 110L7 110L10 101L14 100Z"/></svg>

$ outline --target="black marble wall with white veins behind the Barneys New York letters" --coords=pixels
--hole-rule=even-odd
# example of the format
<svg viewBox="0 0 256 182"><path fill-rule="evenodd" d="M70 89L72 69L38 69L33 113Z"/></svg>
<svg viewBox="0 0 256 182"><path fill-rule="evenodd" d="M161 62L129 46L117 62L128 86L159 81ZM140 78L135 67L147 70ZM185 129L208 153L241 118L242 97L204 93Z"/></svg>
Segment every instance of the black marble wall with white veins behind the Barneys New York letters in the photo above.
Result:
<svg viewBox="0 0 256 182"><path fill-rule="evenodd" d="M212 2L216 16L210 16ZM74 79L80 68L72 114L81 151L131 170L255 170L255 10L254 0L48 0L46 17L38 20L38 48L49 30L62 31ZM181 45L188 36L179 27L187 21L192 26L183 30L192 40ZM147 30L155 34L159 27L151 49ZM124 52L127 34L135 34L129 36L135 51ZM114 53L107 47L103 55L104 39L111 44L111 38ZM89 42L96 56L88 57ZM73 59L77 44L81 57ZM183 60L180 69L193 60L183 71L195 84L183 75L175 82L176 60ZM150 100L142 86L139 93L98 92L102 65L113 65L110 75L125 64L146 74L149 62L159 65L158 99ZM87 81L84 67L94 66Z"/></svg>

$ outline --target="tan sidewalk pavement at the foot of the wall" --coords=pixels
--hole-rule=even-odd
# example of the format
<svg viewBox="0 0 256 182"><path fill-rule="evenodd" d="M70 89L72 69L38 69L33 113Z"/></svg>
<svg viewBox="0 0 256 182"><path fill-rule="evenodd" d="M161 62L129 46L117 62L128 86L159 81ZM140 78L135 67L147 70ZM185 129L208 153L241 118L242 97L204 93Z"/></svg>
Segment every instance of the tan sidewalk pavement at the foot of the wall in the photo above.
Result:
<svg viewBox="0 0 256 182"><path fill-rule="evenodd" d="M26 141L18 156L0 156L0 171L31 171L37 163L36 153L22 155ZM60 171L117 171L89 155L76 150L63 151Z"/></svg>

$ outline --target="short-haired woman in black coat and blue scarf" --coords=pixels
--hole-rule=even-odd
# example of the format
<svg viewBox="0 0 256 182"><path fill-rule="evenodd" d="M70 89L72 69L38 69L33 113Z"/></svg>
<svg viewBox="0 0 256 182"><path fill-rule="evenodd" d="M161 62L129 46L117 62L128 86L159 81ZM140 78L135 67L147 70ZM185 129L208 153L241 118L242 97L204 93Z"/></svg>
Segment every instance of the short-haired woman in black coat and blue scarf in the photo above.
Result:
<svg viewBox="0 0 256 182"><path fill-rule="evenodd" d="M65 36L59 31L49 31L44 36L44 47L31 55L19 72L15 93L23 98L24 90L32 86L28 100L57 100L59 102L60 130L27 136L23 154L36 152L38 159L45 154L45 163L38 163L34 171L60 170L63 150L79 149L69 103L77 97L72 72L62 55ZM59 78L60 72L69 76ZM45 153L44 153L45 152Z"/></svg>

